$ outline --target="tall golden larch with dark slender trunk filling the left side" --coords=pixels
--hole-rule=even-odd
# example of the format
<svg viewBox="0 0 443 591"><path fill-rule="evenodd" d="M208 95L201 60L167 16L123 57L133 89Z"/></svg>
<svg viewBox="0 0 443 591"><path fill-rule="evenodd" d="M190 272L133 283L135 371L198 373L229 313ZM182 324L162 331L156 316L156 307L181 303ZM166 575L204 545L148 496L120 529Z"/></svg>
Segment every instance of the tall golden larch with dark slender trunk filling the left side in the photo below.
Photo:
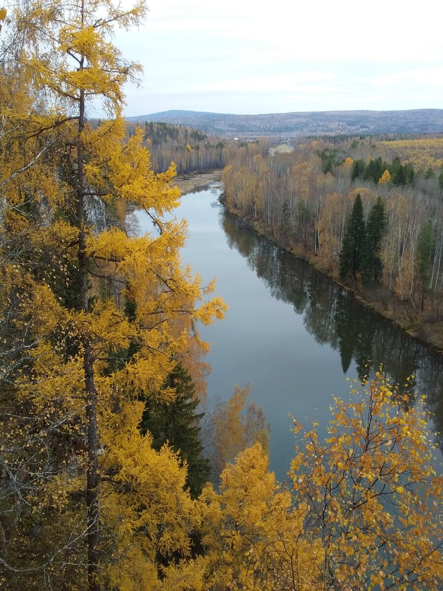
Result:
<svg viewBox="0 0 443 591"><path fill-rule="evenodd" d="M140 433L140 399L161 390L193 340L206 349L198 323L224 304L205 301L213 285L181 263L185 223L164 219L178 204L174 166L154 175L142 132L126 139L122 86L139 66L109 37L145 11L80 0L11 12L0 98L0 564L10 589L30 579L147 589L157 552L190 555L185 469ZM108 118L92 125L97 97ZM128 203L151 216L151 235L126 235Z"/></svg>

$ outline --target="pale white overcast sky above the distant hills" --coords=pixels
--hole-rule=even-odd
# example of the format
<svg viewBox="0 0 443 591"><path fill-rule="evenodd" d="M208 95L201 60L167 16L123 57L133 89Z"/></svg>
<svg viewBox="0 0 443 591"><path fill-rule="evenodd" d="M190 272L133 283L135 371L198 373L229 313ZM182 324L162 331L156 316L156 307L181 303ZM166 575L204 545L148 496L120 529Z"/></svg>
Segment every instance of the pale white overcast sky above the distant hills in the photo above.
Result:
<svg viewBox="0 0 443 591"><path fill-rule="evenodd" d="M142 27L115 39L144 66L128 116L443 107L438 0L148 5Z"/></svg>

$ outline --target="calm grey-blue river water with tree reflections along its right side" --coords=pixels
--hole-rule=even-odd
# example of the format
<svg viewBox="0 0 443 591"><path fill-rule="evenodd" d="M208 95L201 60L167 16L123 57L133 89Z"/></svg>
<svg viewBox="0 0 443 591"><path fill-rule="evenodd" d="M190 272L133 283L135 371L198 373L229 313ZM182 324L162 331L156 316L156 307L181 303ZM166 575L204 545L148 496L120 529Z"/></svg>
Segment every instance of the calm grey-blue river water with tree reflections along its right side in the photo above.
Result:
<svg viewBox="0 0 443 591"><path fill-rule="evenodd" d="M188 220L183 259L204 282L217 277L217 295L229 305L226 318L201 330L212 343L206 361L208 397L227 400L233 385L250 383L250 399L271 423L271 469L286 478L294 455L294 415L315 420L325 435L332 397L351 398L347 377L367 373L367 362L399 384L415 375L443 426L443 358L366 309L335 285L262 238L217 202L220 189L205 188L182 198L177 217ZM141 230L151 229L139 215ZM442 440L440 447L442 449ZM441 471L441 454L437 459Z"/></svg>

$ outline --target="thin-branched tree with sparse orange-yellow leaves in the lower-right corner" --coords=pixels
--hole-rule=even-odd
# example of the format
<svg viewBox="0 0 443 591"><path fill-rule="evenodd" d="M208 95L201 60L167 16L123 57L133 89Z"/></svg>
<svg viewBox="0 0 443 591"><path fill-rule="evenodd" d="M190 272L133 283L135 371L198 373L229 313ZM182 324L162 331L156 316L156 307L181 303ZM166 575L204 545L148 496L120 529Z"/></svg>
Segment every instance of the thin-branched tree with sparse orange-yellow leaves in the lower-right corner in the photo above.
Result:
<svg viewBox="0 0 443 591"><path fill-rule="evenodd" d="M325 588L441 589L442 478L422 405L377 372L357 402L334 399L331 411L328 439L314 424L291 466L322 541Z"/></svg>

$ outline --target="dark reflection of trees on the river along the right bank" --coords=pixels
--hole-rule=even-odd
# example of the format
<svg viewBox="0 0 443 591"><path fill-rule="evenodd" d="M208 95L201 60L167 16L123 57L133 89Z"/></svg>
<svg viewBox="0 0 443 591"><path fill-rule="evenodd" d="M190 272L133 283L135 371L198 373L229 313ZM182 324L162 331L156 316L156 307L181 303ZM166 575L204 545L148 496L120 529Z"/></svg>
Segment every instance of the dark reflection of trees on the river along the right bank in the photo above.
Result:
<svg viewBox="0 0 443 591"><path fill-rule="evenodd" d="M318 343L340 351L346 374L351 361L359 376L382 364L400 387L414 375L412 387L425 392L438 431L443 430L443 358L402 333L393 323L362 306L347 291L307 263L289 255L248 229L225 209L220 221L230 248L265 281L278 300L291 303L302 314L304 326ZM443 449L443 439L439 436Z"/></svg>

